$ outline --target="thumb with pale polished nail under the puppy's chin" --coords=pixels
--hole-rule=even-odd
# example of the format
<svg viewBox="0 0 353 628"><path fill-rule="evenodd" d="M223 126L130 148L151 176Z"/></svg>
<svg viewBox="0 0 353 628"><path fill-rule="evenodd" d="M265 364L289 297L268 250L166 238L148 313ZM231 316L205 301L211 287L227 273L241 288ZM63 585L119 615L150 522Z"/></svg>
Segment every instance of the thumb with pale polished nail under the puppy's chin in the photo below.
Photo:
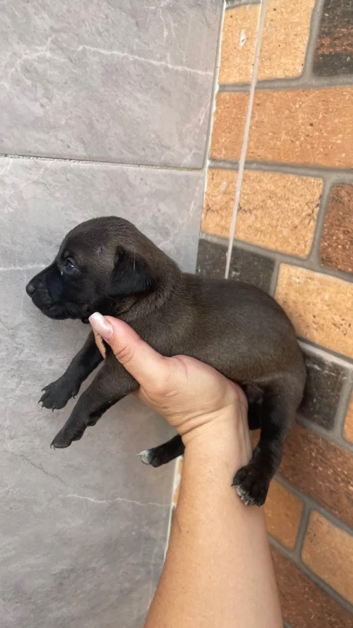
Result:
<svg viewBox="0 0 353 628"><path fill-rule="evenodd" d="M120 364L135 377L140 386L154 389L155 382L166 375L166 358L147 345L124 321L95 312L90 316L93 332L97 332L113 350Z"/></svg>

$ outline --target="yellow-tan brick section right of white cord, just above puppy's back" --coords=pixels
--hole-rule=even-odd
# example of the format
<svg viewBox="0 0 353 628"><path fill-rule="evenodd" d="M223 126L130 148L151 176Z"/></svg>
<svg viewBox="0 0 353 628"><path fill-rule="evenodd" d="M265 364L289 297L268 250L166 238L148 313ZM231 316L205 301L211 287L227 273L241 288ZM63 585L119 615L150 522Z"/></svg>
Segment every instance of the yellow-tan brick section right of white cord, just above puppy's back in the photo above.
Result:
<svg viewBox="0 0 353 628"><path fill-rule="evenodd" d="M271 251L307 257L321 193L321 179L245 171L236 237Z"/></svg>

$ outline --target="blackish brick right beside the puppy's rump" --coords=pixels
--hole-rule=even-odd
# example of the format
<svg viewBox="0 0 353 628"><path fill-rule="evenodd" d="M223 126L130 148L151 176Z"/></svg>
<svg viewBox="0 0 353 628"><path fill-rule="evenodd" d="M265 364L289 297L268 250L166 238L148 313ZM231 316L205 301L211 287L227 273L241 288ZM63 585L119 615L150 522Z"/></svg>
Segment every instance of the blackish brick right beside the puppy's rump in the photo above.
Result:
<svg viewBox="0 0 353 628"><path fill-rule="evenodd" d="M340 366L325 362L315 355L307 354L304 357L307 382L299 414L331 430L346 372Z"/></svg>

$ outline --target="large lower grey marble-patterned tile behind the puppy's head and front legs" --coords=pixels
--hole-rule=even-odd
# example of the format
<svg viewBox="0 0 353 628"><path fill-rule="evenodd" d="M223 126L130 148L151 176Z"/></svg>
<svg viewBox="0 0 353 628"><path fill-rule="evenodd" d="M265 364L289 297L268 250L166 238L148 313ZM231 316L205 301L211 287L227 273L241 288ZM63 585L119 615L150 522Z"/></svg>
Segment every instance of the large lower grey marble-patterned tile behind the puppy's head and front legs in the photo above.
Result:
<svg viewBox="0 0 353 628"><path fill-rule="evenodd" d="M162 568L173 465L136 454L171 436L137 399L79 443L50 442L74 401L51 413L41 388L65 370L87 326L55 322L24 286L64 234L96 215L135 222L182 267L196 264L202 173L2 160L0 254L2 628L142 628Z"/></svg>

